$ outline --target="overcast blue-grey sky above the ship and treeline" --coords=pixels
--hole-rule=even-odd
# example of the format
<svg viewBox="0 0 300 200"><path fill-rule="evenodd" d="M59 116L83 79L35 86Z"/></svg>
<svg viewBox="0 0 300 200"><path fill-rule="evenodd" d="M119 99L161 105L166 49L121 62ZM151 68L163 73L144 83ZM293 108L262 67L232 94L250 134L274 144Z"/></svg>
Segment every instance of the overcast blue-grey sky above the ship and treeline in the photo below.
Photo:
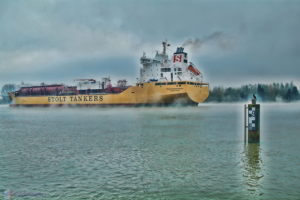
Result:
<svg viewBox="0 0 300 200"><path fill-rule="evenodd" d="M300 87L299 37L300 1L2 0L0 87L106 76L134 85L143 51L166 38L211 87Z"/></svg>

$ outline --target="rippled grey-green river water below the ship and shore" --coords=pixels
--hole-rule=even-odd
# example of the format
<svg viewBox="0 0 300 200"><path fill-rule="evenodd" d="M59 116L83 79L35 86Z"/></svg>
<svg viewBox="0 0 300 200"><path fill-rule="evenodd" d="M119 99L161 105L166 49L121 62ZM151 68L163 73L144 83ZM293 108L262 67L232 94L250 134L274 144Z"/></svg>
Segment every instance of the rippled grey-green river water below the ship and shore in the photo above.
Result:
<svg viewBox="0 0 300 200"><path fill-rule="evenodd" d="M0 106L0 120L0 199L300 196L299 104L261 104L259 144L243 104Z"/></svg>

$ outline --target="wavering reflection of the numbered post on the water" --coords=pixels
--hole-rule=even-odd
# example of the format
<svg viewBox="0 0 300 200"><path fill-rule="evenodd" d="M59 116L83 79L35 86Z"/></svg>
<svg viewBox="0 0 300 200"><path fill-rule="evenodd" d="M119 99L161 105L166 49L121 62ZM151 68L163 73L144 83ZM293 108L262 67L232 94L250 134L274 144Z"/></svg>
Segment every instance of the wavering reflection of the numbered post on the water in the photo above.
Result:
<svg viewBox="0 0 300 200"><path fill-rule="evenodd" d="M262 181L264 176L264 163L259 155L261 153L259 143L247 143L244 145L242 153L242 176L244 177L244 186L249 191L249 195L262 195Z"/></svg>

